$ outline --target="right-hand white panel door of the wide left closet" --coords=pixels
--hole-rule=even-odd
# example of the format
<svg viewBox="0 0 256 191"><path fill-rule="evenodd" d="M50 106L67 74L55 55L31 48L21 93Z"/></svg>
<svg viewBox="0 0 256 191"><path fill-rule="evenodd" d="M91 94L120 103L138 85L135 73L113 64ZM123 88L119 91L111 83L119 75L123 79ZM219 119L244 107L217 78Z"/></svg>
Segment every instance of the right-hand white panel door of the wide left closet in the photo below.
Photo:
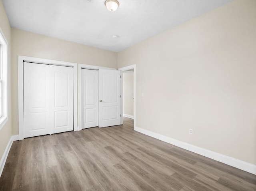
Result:
<svg viewBox="0 0 256 191"><path fill-rule="evenodd" d="M49 65L50 134L73 130L73 68Z"/></svg>

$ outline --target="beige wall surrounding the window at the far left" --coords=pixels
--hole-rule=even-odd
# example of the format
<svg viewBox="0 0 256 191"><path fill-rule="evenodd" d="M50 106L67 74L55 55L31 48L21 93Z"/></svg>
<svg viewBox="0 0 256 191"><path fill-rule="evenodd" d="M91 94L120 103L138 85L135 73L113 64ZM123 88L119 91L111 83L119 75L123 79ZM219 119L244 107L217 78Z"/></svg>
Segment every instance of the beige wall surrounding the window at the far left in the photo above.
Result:
<svg viewBox="0 0 256 191"><path fill-rule="evenodd" d="M12 136L12 103L11 103L11 27L9 20L4 10L3 2L0 0L0 28L8 42L8 121L0 130L0 160L3 156L4 150Z"/></svg>

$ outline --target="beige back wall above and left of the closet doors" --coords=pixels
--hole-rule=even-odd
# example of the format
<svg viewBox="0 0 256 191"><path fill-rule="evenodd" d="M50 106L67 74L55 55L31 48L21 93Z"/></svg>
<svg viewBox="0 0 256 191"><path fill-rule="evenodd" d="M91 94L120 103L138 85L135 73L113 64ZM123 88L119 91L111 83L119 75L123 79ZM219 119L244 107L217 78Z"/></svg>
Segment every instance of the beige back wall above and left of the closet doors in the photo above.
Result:
<svg viewBox="0 0 256 191"><path fill-rule="evenodd" d="M18 55L116 68L117 53L12 28L12 117L18 134Z"/></svg>

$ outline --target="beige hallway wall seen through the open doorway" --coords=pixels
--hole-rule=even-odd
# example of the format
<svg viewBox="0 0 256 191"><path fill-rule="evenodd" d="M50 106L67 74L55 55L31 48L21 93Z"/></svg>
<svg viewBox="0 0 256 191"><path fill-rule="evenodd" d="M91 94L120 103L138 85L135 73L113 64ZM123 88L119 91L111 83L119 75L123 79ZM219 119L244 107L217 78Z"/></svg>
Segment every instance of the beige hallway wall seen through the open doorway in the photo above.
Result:
<svg viewBox="0 0 256 191"><path fill-rule="evenodd" d="M123 113L133 116L133 73L123 73Z"/></svg>

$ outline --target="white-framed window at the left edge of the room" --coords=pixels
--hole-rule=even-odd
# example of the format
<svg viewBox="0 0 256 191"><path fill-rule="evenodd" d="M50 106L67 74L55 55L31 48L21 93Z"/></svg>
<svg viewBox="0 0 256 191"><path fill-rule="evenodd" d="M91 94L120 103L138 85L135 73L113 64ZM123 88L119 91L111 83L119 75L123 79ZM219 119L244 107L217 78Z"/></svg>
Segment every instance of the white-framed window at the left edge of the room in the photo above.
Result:
<svg viewBox="0 0 256 191"><path fill-rule="evenodd" d="M0 130L4 124L8 121L8 84L7 84L7 64L8 63L8 42L4 36L4 33L0 29L0 83L2 85L2 99L1 99L1 111L0 117ZM0 112L1 113L1 112Z"/></svg>

